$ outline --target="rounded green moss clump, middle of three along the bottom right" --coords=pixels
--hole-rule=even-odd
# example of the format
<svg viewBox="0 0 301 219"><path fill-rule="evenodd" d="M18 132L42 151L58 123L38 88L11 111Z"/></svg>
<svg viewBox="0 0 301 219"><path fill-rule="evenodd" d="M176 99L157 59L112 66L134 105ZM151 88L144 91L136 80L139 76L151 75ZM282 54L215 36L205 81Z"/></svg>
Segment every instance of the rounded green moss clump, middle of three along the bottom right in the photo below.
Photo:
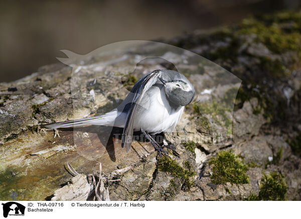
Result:
<svg viewBox="0 0 301 219"><path fill-rule="evenodd" d="M231 151L221 151L209 162L212 166L211 181L214 184L246 184L249 176L246 174L248 166Z"/></svg>

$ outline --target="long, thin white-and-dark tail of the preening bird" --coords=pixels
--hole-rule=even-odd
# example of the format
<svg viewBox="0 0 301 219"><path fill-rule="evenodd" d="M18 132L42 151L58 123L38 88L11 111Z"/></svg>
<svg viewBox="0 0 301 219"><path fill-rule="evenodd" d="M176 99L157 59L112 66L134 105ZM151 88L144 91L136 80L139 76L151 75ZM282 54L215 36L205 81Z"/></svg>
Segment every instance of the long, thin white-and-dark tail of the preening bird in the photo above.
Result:
<svg viewBox="0 0 301 219"><path fill-rule="evenodd" d="M85 125L114 126L116 117L117 117L117 110L114 110L101 116L89 117L89 118L60 122L60 123L46 124L43 125L43 127L48 129L59 129L59 128L69 128L69 127L77 127L77 126L85 126Z"/></svg>

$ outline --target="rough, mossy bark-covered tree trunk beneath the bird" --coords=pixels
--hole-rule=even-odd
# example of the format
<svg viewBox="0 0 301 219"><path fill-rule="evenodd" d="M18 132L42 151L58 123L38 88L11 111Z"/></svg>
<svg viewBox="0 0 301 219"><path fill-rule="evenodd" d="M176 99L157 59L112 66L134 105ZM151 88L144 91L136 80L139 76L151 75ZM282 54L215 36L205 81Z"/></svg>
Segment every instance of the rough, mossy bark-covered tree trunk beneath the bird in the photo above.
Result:
<svg viewBox="0 0 301 219"><path fill-rule="evenodd" d="M106 55L106 60L101 55L91 56L73 66L73 73L71 67L54 64L0 84L0 199L44 200L56 193L57 200L82 200L92 188L82 175L71 180L80 187L73 197L69 190L77 186L66 185L55 192L71 178L64 164L69 161L88 175L97 160L107 178L120 179L106 182L111 200L301 200L300 30L300 13L279 13L167 42L212 60L242 80L233 113L232 143L222 147L210 141L198 143L196 138L214 132L204 118L225 128L220 104L207 98L208 105L205 98L218 96L201 95L202 91L220 91L219 98L235 100L235 95L227 92L233 84L204 85L216 69L183 67L204 98L186 107L177 132L167 136L171 142L181 135L192 140L176 144L180 157L159 157L152 145L140 141L134 141L134 150L126 154L114 137L104 146L111 131L105 128L68 129L59 133L60 138L39 130L40 124L108 112L126 96L124 87L129 88L135 77L154 67L171 67L164 62L156 66L146 62L137 66L132 76L124 76L122 73L131 72L128 65L135 62L133 57L141 55L139 48L131 51L126 61L121 53ZM152 54L153 49L149 46L143 52ZM192 68L199 73L189 73ZM80 87L70 86L70 81ZM204 113L200 114L198 107ZM191 121L189 129L187 121ZM103 136L107 139L102 140ZM229 154L221 153L225 150ZM230 157L227 160L226 155ZM215 175L219 165L225 167L223 180ZM246 171L227 178L233 171L230 167L239 165Z"/></svg>

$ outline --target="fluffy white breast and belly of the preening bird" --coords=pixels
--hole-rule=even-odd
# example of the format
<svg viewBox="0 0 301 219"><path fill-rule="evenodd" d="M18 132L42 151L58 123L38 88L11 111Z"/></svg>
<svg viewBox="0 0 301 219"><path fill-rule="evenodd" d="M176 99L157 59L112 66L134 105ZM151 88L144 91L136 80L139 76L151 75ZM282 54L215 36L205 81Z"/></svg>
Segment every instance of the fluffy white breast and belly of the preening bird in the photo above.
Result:
<svg viewBox="0 0 301 219"><path fill-rule="evenodd" d="M134 130L141 128L152 134L172 132L179 122L184 106L172 107L162 84L150 87L141 100L134 120Z"/></svg>

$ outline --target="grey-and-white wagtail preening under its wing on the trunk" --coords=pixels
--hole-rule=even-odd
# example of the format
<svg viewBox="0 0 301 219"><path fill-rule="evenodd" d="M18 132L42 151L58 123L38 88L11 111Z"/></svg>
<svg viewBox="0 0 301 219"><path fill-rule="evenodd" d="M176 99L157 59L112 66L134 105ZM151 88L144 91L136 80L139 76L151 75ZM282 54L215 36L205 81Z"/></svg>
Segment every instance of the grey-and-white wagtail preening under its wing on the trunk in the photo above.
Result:
<svg viewBox="0 0 301 219"><path fill-rule="evenodd" d="M167 154L152 137L172 132L186 105L195 96L192 83L181 73L156 69L141 77L114 110L95 117L44 125L48 129L99 125L123 128L121 147L130 151L133 132L141 131L162 155ZM172 148L174 149L174 148Z"/></svg>

